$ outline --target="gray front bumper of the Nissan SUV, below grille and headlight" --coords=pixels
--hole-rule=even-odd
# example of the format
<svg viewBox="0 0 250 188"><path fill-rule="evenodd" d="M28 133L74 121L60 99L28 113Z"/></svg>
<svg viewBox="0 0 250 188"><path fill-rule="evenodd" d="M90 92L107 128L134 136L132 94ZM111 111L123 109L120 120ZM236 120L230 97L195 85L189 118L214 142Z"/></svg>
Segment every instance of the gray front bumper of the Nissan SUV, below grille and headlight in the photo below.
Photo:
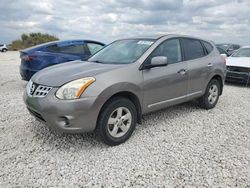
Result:
<svg viewBox="0 0 250 188"><path fill-rule="evenodd" d="M32 97L24 93L24 102L32 116L50 128L66 133L93 131L100 107L95 103L96 97L77 100L60 100L54 95L53 88L46 97Z"/></svg>

